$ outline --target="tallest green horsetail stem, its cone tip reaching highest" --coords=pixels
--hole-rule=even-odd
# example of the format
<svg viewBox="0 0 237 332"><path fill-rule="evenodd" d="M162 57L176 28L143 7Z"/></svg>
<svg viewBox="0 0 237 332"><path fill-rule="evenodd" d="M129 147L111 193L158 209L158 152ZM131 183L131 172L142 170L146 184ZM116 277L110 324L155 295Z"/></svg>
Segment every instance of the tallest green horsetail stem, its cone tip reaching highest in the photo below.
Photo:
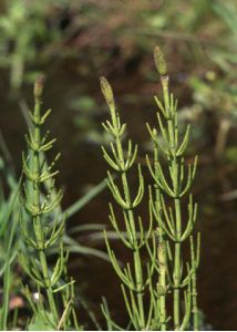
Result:
<svg viewBox="0 0 237 332"><path fill-rule="evenodd" d="M178 118L177 118L177 101L174 98L173 94L169 94L168 89L168 75L167 75L167 65L164 58L163 52L158 46L155 48L154 51L155 64L157 71L161 75L161 82L163 87L163 96L164 103L157 101L158 108L164 115L164 120L161 120L158 116L158 126L161 129L161 136L164 138L164 145L162 146L162 142L157 139L157 145L161 145L163 152L166 155L166 162L168 166L168 178L165 178L166 175L159 168L157 176L157 184L161 187L161 190L164 191L168 198L173 201L173 206L168 207L168 212L166 207L164 207L165 219L167 221L167 228L163 228L164 237L168 236L171 238L172 247L167 247L168 258L172 260L172 284L173 288L173 322L174 330L185 329L188 324L190 310L193 305L193 323L194 329L198 329L198 312L197 312L197 299L196 299L196 269L197 261L199 260L199 239L197 245L197 258L195 258L194 253L194 245L193 239L190 238L190 251L192 251L192 269L189 266L187 267L187 274L183 277L183 257L182 257L182 242L188 236L188 232L193 230L192 224L195 222L196 219L196 205L193 204L192 196L189 203L187 205L188 209L188 220L186 222L186 230L184 234L183 226L183 215L182 215L182 200L181 197L189 189L190 184L193 183L193 175L195 173L195 167L192 170L192 166L188 165L188 175L187 175L187 184L183 188L183 180L185 178L184 172L184 152L187 147L188 143L188 132L189 126L186 129L185 136L179 142L179 131L178 131ZM165 122L165 125L163 124ZM151 129L150 129L151 131ZM155 142L155 135L151 133L153 141ZM159 165L159 162L157 160ZM159 174L161 173L161 174ZM162 174L163 173L163 174ZM153 175L153 174L152 174ZM161 176L161 179L159 179ZM183 193L181 195L181 193ZM163 201L164 204L164 201ZM194 214L192 212L194 211ZM169 216L168 216L169 215ZM161 240L159 240L161 241ZM161 252L158 251L161 255ZM167 262L166 268L168 269ZM162 282L162 273L159 267L159 284ZM167 270L169 276L169 271ZM168 279L169 281L169 279ZM182 288L184 287L184 292ZM192 292L190 294L190 287ZM185 289L186 288L186 289ZM190 305L190 297L193 304ZM181 310L181 300L185 300L185 313L182 318ZM162 300L159 299L159 311L162 310Z"/></svg>

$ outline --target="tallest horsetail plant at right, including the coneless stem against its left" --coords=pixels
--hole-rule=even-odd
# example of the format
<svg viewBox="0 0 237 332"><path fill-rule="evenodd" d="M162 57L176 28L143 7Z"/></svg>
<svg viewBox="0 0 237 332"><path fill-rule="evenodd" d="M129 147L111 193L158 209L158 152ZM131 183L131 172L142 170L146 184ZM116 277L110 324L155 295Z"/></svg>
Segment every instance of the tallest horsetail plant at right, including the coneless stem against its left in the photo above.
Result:
<svg viewBox="0 0 237 332"><path fill-rule="evenodd" d="M154 218L157 221L158 246L156 263L158 271L157 290L154 289L157 299L157 315L161 330L190 329L192 323L198 330L198 311L196 293L196 270L199 262L199 235L197 236L197 249L194 248L192 231L197 216L197 204L189 194L187 204L187 221L185 221L184 207L187 195L196 173L197 157L193 165L185 163L184 154L189 137L189 125L183 137L179 134L177 100L169 93L167 64L164 54L157 46L154 52L156 69L161 75L164 103L156 96L158 106L158 129L147 124L154 146L153 163L147 157L147 165L154 179L155 195L150 190L150 204ZM163 118L162 118L162 116ZM162 157L166 163L166 169L162 166ZM187 173L185 168L187 167ZM190 263L184 267L183 245L190 239ZM186 273L184 273L184 269ZM173 312L167 314L167 299L173 295ZM184 312L182 312L184 302ZM190 318L193 313L193 319ZM168 320L172 318L173 325ZM192 322L192 323L190 323Z"/></svg>

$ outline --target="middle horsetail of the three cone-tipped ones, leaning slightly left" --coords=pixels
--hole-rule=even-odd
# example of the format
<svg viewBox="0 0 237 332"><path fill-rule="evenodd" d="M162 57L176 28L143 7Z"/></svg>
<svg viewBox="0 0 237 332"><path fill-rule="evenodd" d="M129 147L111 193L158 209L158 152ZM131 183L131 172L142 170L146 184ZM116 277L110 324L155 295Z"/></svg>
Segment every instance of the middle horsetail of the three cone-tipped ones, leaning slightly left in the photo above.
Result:
<svg viewBox="0 0 237 332"><path fill-rule="evenodd" d="M105 242L112 266L121 280L125 308L131 322L130 328L135 330L150 330L152 315L146 314L144 293L151 282L153 267L151 263L144 267L141 251L146 247L146 242L151 237L152 218L150 219L148 230L145 231L142 218L140 216L136 217L136 207L141 204L144 196L144 178L141 165L138 164L138 189L135 198L132 198L128 172L136 160L137 146L133 146L132 141L128 139L127 152L124 152L123 138L125 136L126 124L121 123L120 115L116 112L112 87L105 77L101 77L101 89L111 113L111 121L106 121L102 125L113 138L111 142L112 153L109 154L104 147L102 147L102 151L105 160L121 180L121 189L115 184L115 179L110 172L107 172L107 185L115 201L122 209L125 234L121 229L121 222L118 222L117 217L115 217L114 208L111 204L110 221L122 243L132 252L132 262L127 262L124 268L121 267L121 263L111 248L106 231L104 231ZM121 330L121 328L112 321L104 305L102 305L102 310L106 320L110 321L110 326ZM152 312L152 308L150 312Z"/></svg>

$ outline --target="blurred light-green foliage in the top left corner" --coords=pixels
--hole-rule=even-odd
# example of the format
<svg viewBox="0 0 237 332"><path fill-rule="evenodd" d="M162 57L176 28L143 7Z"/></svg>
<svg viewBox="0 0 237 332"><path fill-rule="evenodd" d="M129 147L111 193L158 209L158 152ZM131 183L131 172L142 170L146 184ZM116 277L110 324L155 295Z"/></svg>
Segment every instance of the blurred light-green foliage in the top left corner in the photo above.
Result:
<svg viewBox="0 0 237 332"><path fill-rule="evenodd" d="M55 1L50 2L52 6ZM35 60L39 63L40 59L43 60L43 54L38 52L39 44L49 44L60 39L59 27L53 23L49 33L45 18L50 2L8 0L1 3L0 66L10 69L10 84L16 91L21 87L28 66L34 64ZM56 2L58 6L64 3ZM31 81L38 74L31 71Z"/></svg>

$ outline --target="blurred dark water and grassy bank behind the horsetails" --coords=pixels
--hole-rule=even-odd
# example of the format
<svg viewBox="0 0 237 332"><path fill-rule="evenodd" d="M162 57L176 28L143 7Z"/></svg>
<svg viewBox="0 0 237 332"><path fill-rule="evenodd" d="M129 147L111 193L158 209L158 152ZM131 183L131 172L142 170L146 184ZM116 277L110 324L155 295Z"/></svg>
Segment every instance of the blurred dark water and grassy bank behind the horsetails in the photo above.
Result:
<svg viewBox="0 0 237 332"><path fill-rule="evenodd" d="M166 54L181 121L193 125L188 154L199 155L193 188L199 204L197 229L202 231L199 307L209 328L235 330L235 0L1 0L1 155L19 176L25 148L25 110L32 107L33 81L43 72L44 105L53 110L49 128L58 137L56 149L62 152L59 184L65 190L63 207L89 193L106 175L100 145L109 142L101 126L109 113L100 92L101 75L114 87L122 118L128 124L130 136L141 145L143 160L150 149L145 123L155 122L153 96L161 95L153 63L155 45ZM68 221L69 234L75 226L91 224L110 228L110 199L106 189L100 193ZM70 235L81 246L86 243L105 252L101 231L89 228ZM116 239L114 247L124 259L126 253ZM85 321L87 311L103 325L102 295L111 304L113 317L126 321L117 279L106 259L74 252L70 271L87 303L81 314Z"/></svg>

